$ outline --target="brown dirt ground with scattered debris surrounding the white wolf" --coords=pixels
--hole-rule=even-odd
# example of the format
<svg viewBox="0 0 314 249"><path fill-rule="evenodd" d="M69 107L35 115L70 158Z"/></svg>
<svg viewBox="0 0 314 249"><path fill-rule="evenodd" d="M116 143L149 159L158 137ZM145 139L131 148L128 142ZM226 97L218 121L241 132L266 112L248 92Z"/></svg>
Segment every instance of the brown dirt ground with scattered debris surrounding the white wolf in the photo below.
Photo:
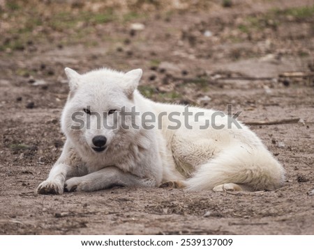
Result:
<svg viewBox="0 0 314 249"><path fill-rule="evenodd" d="M0 1L0 234L314 234L313 1L173 2ZM251 125L285 185L36 194L65 140L64 67L141 67L156 101L300 118Z"/></svg>

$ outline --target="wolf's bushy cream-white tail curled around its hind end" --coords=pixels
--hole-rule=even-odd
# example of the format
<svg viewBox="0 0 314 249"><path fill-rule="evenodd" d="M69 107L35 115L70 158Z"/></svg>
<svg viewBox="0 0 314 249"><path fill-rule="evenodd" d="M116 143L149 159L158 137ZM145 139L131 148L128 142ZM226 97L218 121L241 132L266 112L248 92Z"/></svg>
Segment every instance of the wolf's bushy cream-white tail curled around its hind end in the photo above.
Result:
<svg viewBox="0 0 314 249"><path fill-rule="evenodd" d="M193 191L213 189L220 184L244 184L254 191L274 190L284 181L285 170L264 147L234 145L204 163L186 180Z"/></svg>

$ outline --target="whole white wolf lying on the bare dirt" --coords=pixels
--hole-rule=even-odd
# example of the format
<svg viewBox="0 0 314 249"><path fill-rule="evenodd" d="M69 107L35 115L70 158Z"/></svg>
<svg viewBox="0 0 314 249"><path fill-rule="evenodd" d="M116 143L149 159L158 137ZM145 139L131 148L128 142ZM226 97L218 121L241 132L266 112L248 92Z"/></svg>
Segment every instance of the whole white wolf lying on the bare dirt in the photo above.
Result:
<svg viewBox="0 0 314 249"><path fill-rule="evenodd" d="M230 116L209 109L190 107L186 119L185 106L143 97L137 90L142 70L65 71L70 86L61 116L66 143L38 193L160 184L258 191L283 183L281 164L253 131L241 123L229 125ZM137 115L118 115L130 110ZM208 120L216 128L200 129Z"/></svg>

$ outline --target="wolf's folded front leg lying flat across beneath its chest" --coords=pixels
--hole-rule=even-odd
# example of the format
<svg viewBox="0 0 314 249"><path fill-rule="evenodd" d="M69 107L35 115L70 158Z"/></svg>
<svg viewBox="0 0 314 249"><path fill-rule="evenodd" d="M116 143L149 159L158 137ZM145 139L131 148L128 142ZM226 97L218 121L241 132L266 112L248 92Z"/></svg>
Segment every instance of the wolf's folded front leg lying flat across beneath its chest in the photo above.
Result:
<svg viewBox="0 0 314 249"><path fill-rule="evenodd" d="M106 167L83 177L73 177L66 181L65 191L97 191L112 186L156 186L155 179L143 179L123 172L117 167Z"/></svg>

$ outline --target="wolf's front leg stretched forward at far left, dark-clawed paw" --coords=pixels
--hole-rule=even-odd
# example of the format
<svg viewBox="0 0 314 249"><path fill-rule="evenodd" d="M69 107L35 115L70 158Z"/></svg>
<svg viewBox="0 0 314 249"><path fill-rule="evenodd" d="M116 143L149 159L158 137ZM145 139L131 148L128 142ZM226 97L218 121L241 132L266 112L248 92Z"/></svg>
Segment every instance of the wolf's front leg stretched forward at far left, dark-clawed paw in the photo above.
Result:
<svg viewBox="0 0 314 249"><path fill-rule="evenodd" d="M37 193L61 195L63 193L64 182L71 167L65 163L56 163L49 173L49 177L39 184Z"/></svg>

